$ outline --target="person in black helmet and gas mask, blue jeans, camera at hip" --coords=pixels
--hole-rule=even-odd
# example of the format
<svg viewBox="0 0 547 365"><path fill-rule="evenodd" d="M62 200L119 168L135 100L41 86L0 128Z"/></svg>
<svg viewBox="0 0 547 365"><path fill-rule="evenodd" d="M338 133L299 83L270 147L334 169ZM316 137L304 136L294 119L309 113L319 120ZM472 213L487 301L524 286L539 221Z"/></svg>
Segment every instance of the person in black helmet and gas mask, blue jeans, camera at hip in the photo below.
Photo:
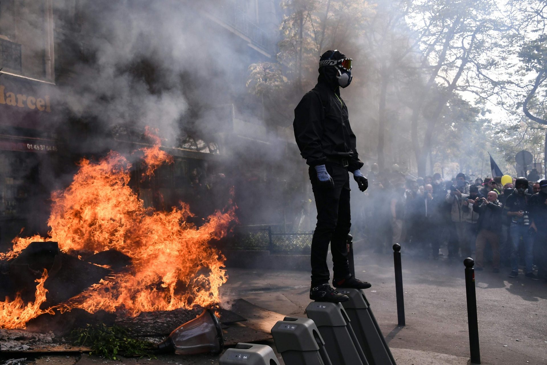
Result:
<svg viewBox="0 0 547 365"><path fill-rule="evenodd" d="M515 181L515 190L513 194L505 200L503 208L505 216L510 219L509 235L513 246L511 247L511 273L509 277L519 275L519 245L522 237L524 245L525 276L529 279L537 280L537 276L532 273L533 261L533 240L531 233L536 231L533 219L529 213L531 195L528 194L528 179L519 177Z"/></svg>

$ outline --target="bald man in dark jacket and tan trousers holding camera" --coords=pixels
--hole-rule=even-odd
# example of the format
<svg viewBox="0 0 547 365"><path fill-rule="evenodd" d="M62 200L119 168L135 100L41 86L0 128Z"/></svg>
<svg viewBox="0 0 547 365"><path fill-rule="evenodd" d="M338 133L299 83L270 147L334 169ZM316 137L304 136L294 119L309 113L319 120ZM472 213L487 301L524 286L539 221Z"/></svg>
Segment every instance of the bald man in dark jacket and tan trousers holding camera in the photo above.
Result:
<svg viewBox="0 0 547 365"><path fill-rule="evenodd" d="M499 228L502 218L502 204L496 192L489 192L487 198L475 198L473 211L479 213L479 234L476 239L475 270L482 270L482 258L487 243L492 247L492 268L499 273Z"/></svg>

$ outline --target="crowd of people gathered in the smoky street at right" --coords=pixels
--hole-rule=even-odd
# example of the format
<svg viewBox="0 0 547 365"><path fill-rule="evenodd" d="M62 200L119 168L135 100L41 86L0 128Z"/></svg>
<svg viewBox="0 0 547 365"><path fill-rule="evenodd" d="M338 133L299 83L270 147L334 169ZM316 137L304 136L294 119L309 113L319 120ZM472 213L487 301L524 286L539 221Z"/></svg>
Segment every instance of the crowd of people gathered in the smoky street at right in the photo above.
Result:
<svg viewBox="0 0 547 365"><path fill-rule="evenodd" d="M464 173L449 181L439 173L414 179L374 167L365 219L377 252L400 244L433 260L472 257L475 270L503 269L509 277L522 266L525 277L547 281L547 179L518 177L503 185L501 176L470 181Z"/></svg>

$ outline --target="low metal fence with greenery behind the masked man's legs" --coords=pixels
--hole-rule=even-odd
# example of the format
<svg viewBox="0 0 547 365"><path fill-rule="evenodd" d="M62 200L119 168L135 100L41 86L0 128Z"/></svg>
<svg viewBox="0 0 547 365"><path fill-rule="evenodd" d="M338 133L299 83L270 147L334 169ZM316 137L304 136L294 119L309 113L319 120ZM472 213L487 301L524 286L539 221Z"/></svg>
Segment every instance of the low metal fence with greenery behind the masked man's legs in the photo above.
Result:
<svg viewBox="0 0 547 365"><path fill-rule="evenodd" d="M231 250L267 250L275 253L310 253L313 231L282 231L283 225L244 225L224 240Z"/></svg>

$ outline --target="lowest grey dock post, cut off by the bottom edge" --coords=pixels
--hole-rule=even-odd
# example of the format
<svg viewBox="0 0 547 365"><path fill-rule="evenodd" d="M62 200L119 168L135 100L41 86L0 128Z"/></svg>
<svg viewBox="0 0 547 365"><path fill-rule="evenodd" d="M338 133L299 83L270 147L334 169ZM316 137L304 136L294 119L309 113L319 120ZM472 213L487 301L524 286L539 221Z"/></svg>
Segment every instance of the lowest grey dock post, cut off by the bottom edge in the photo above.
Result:
<svg viewBox="0 0 547 365"><path fill-rule="evenodd" d="M267 345L238 343L235 349L228 349L220 357L220 365L279 365L274 350Z"/></svg>

